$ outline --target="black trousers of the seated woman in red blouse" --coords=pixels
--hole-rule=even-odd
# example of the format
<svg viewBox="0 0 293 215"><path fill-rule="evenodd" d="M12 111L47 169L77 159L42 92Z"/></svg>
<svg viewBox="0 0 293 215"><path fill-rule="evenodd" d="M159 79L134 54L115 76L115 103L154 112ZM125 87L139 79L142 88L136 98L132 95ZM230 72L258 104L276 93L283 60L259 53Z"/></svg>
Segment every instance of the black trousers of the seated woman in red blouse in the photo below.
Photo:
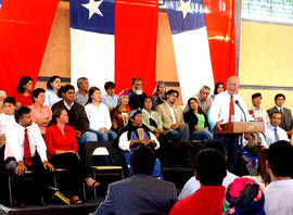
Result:
<svg viewBox="0 0 293 215"><path fill-rule="evenodd" d="M78 195L82 181L87 177L81 162L74 153L56 154L49 159L55 168L66 168L61 173L61 191L68 197Z"/></svg>

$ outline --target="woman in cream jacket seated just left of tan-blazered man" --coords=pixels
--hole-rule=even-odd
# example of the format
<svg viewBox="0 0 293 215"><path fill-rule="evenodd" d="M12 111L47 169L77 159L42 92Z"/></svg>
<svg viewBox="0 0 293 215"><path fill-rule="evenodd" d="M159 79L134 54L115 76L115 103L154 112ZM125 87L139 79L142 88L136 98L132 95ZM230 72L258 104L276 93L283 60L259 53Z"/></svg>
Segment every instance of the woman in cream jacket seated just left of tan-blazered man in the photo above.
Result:
<svg viewBox="0 0 293 215"><path fill-rule="evenodd" d="M150 128L150 130L153 131L153 134L155 134L156 139L158 139L163 131L163 125L158 114L153 111L152 108L152 99L146 97L143 102L142 122L144 125L146 125L148 128Z"/></svg>

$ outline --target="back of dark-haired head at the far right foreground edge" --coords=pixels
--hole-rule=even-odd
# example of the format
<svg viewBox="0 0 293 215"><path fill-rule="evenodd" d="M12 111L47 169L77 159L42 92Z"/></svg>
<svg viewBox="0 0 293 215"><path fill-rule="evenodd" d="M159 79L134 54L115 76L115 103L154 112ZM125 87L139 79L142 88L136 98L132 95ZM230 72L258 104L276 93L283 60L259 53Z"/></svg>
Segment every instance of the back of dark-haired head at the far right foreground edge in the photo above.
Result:
<svg viewBox="0 0 293 215"><path fill-rule="evenodd" d="M280 140L269 146L267 167L270 176L292 178L291 164L293 164L293 147L288 141Z"/></svg>

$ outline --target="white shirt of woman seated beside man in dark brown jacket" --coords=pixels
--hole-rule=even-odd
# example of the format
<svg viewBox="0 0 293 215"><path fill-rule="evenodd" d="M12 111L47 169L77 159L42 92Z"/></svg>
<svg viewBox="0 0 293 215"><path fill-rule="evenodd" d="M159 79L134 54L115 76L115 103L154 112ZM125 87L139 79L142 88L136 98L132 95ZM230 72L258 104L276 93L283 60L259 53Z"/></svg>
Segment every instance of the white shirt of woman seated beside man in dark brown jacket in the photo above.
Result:
<svg viewBox="0 0 293 215"><path fill-rule="evenodd" d="M109 109L104 103L100 103L97 108L93 104L87 104L85 106L89 118L89 127L93 130L106 127L109 130L112 126Z"/></svg>

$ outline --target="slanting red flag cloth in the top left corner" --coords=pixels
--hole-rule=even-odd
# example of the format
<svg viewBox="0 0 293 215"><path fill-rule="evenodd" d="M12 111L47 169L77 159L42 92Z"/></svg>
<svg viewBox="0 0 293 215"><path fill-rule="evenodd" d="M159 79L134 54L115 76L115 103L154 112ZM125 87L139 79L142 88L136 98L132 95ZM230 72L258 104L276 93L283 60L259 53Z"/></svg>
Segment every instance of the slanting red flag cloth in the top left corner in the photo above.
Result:
<svg viewBox="0 0 293 215"><path fill-rule="evenodd" d="M59 0L4 0L0 13L0 89L14 94L22 76L34 84ZM53 74L52 74L53 75Z"/></svg>

